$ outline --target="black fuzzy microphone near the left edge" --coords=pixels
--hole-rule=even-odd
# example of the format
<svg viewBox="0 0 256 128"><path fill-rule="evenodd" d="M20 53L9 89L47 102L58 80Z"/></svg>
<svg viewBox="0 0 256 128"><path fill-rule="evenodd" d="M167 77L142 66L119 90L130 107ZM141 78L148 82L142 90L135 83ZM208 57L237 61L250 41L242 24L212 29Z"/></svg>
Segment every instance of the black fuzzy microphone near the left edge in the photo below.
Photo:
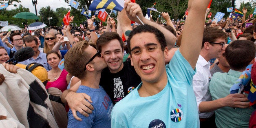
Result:
<svg viewBox="0 0 256 128"><path fill-rule="evenodd" d="M14 60L17 62L22 62L22 61L28 60L29 58L33 57L33 55L34 55L34 50L31 47L27 46L27 47L22 48L22 49L18 50L17 52L15 52L13 58L8 60L6 63L12 62Z"/></svg>

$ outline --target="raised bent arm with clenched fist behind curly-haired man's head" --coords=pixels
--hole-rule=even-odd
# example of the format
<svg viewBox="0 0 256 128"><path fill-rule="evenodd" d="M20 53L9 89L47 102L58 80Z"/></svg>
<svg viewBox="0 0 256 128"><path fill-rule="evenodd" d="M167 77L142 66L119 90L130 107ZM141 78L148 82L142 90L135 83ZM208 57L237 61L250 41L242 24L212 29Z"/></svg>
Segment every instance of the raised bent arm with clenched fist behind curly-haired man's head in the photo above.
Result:
<svg viewBox="0 0 256 128"><path fill-rule="evenodd" d="M173 35L169 30L165 29L163 26L155 23L155 22L151 22L150 20L146 19L144 16L143 16L143 13L141 11L141 8L139 7L139 4L136 4L136 3L132 3L130 2L130 0L126 0L126 2L124 3L124 9L126 9L126 14L128 16L128 18L132 21L135 21L139 24L142 24L138 18L136 18L135 15L137 15L139 17L139 19L144 23L144 24L148 24L150 26L154 26L155 28L157 28L158 30L160 30L165 38L166 38L166 42L167 42L167 46L168 46L168 49L171 49L177 38L176 38L176 35Z"/></svg>

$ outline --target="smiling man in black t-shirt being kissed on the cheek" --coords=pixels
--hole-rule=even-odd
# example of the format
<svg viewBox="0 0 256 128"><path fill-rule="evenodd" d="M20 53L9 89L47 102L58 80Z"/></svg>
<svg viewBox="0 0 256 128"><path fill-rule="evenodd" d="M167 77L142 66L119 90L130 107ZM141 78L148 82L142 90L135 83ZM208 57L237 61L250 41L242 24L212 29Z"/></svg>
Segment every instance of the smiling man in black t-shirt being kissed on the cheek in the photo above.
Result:
<svg viewBox="0 0 256 128"><path fill-rule="evenodd" d="M130 61L123 62L124 45L117 33L102 34L96 44L108 65L108 68L102 71L99 84L115 104L135 89L141 79Z"/></svg>

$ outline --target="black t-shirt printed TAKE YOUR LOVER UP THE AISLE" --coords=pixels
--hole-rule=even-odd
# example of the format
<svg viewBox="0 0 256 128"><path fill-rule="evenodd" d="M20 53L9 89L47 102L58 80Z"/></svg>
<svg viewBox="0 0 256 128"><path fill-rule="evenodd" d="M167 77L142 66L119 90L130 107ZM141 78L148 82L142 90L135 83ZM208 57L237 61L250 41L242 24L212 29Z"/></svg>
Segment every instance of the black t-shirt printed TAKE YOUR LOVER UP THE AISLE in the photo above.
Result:
<svg viewBox="0 0 256 128"><path fill-rule="evenodd" d="M118 73L110 73L108 68L103 69L99 85L104 88L113 104L123 99L134 90L141 78L137 75L130 61L124 62L124 67Z"/></svg>

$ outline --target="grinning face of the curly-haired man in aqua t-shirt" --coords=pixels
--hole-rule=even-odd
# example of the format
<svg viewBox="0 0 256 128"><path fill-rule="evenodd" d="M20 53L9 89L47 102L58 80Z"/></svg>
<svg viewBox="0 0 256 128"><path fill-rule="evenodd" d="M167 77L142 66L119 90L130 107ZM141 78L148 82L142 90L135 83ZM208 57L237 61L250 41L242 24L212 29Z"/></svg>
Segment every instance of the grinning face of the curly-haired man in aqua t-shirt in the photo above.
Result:
<svg viewBox="0 0 256 128"><path fill-rule="evenodd" d="M150 38L148 38L150 37ZM143 84L161 82L166 74L164 59L168 57L167 47L161 45L153 33L137 33L130 40L132 66Z"/></svg>

